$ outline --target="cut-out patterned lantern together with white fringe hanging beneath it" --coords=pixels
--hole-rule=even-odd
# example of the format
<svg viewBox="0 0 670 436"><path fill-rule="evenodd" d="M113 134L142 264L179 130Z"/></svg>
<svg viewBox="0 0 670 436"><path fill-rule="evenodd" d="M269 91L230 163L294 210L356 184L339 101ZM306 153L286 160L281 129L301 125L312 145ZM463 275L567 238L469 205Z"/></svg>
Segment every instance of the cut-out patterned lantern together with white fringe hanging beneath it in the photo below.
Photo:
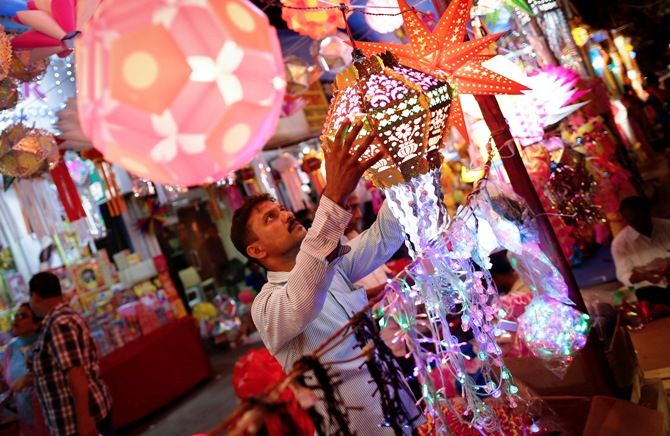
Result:
<svg viewBox="0 0 670 436"><path fill-rule="evenodd" d="M360 59L336 78L324 126L325 140L347 119L365 120L363 135L376 130L368 154L384 157L368 170L377 187L389 188L394 214L406 226L408 247L418 252L441 228L444 210L440 192L440 146L449 113L449 85L399 65L391 54ZM356 146L362 139L358 139ZM409 185L407 185L409 184ZM424 202L427 202L424 204ZM415 216L406 204L416 204Z"/></svg>

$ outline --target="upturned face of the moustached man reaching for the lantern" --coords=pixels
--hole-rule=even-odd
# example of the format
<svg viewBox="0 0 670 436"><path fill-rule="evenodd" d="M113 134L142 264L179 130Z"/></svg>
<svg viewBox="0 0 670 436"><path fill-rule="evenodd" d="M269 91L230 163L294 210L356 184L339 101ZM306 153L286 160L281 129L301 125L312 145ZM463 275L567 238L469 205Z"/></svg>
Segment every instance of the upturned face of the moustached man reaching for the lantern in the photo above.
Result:
<svg viewBox="0 0 670 436"><path fill-rule="evenodd" d="M254 208L248 224L255 239L247 247L249 256L262 264L300 249L307 230L295 219L293 212L274 201L265 201ZM252 240L253 240L252 239Z"/></svg>

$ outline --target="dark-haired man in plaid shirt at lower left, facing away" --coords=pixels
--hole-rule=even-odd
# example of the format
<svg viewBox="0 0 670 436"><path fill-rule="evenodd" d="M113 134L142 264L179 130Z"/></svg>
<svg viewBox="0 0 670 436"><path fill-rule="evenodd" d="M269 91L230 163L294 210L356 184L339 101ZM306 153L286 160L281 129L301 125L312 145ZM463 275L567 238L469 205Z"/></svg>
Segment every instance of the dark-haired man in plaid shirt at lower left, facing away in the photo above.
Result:
<svg viewBox="0 0 670 436"><path fill-rule="evenodd" d="M86 321L63 300L54 274L36 274L29 286L30 306L44 317L32 370L49 432L113 435L112 399L100 379L97 349Z"/></svg>

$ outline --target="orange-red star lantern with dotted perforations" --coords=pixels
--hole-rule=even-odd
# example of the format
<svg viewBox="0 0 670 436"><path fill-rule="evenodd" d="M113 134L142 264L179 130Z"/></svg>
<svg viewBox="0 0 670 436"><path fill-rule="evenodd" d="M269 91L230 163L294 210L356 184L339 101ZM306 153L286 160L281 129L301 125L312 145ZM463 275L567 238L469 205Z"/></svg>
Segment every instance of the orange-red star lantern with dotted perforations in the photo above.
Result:
<svg viewBox="0 0 670 436"><path fill-rule="evenodd" d="M410 43L359 42L356 46L366 55L390 51L401 64L448 81L454 88L449 127L456 128L468 140L465 119L458 94L520 94L527 88L484 65L493 56L482 51L502 36L489 35L464 41L472 0L453 0L440 21L430 30L406 0L398 0Z"/></svg>

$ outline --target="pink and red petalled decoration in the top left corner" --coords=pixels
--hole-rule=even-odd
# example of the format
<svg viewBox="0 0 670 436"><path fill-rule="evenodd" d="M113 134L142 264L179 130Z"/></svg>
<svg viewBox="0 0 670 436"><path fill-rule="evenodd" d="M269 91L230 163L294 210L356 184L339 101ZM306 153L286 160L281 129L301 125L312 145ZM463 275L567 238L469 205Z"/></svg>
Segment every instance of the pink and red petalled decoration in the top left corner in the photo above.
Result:
<svg viewBox="0 0 670 436"><path fill-rule="evenodd" d="M72 53L73 40L81 34L100 0L31 1L16 20L31 29L12 39L15 49L28 49L32 59Z"/></svg>

